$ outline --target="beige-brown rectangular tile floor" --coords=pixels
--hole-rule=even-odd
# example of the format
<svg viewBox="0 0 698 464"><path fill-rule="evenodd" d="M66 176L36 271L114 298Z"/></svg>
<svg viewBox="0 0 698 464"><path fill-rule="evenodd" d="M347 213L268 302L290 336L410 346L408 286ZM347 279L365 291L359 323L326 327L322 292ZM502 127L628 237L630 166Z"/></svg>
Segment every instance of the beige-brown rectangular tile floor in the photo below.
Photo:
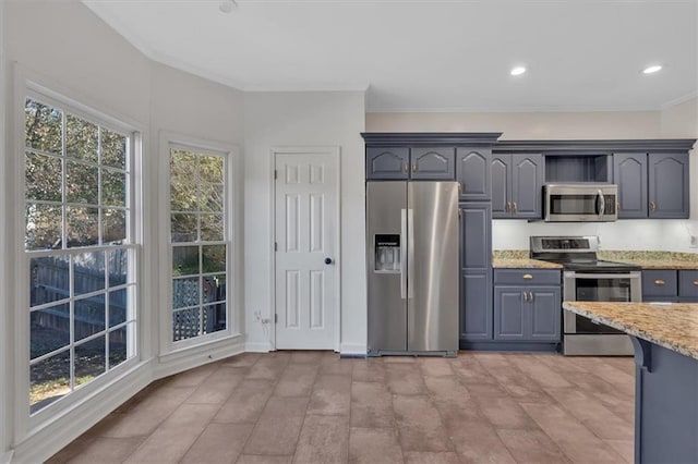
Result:
<svg viewBox="0 0 698 464"><path fill-rule="evenodd" d="M243 354L149 386L51 463L631 463L629 357Z"/></svg>

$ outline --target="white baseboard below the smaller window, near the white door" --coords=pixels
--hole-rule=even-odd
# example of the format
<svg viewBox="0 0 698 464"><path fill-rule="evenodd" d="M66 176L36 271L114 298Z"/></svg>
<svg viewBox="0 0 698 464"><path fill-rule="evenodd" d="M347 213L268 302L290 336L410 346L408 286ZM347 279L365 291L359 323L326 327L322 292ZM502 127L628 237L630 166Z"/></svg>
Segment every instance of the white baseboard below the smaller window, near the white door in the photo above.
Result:
<svg viewBox="0 0 698 464"><path fill-rule="evenodd" d="M158 357L158 362L153 366L153 378L172 376L183 370L193 369L204 364L214 363L226 357L244 353L245 346L242 337L236 335L222 340L216 340L201 346L188 347L164 354Z"/></svg>

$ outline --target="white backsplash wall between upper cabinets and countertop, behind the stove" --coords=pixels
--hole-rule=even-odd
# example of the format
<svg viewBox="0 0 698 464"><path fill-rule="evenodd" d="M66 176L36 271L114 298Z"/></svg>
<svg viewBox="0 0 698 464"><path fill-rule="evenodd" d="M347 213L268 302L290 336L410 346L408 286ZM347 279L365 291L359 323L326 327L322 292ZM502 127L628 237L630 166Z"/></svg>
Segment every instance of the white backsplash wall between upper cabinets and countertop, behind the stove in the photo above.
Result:
<svg viewBox="0 0 698 464"><path fill-rule="evenodd" d="M493 249L528 249L531 235L599 235L602 249L698 253L690 235L698 220L622 220L599 223L550 223L500 219L492 221ZM698 257L697 257L698 258Z"/></svg>

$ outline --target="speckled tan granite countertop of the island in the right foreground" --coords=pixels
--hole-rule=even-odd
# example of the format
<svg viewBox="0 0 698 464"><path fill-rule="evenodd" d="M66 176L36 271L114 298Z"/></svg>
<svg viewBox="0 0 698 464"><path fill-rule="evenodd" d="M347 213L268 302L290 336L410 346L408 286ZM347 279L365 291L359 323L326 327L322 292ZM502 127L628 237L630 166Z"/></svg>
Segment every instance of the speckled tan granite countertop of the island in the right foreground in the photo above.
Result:
<svg viewBox="0 0 698 464"><path fill-rule="evenodd" d="M563 308L698 359L698 303L563 302Z"/></svg>

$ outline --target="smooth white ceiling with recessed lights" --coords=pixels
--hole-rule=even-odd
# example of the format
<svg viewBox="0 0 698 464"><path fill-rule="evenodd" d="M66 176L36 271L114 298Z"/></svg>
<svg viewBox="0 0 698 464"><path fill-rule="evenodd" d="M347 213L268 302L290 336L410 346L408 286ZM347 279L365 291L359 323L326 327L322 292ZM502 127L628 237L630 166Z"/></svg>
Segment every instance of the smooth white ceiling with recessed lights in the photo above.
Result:
<svg viewBox="0 0 698 464"><path fill-rule="evenodd" d="M84 3L156 61L250 91L368 87L369 111L645 110L698 89L697 0Z"/></svg>

